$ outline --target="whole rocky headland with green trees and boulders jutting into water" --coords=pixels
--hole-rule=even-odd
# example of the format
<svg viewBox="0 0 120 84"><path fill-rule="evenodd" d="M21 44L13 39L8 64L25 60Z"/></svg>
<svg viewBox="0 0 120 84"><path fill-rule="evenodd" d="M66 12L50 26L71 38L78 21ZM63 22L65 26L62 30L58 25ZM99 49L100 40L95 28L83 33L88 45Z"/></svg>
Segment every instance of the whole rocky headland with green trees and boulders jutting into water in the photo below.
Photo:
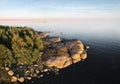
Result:
<svg viewBox="0 0 120 84"><path fill-rule="evenodd" d="M0 26L0 83L22 83L87 58L78 39L50 37L29 27Z"/></svg>

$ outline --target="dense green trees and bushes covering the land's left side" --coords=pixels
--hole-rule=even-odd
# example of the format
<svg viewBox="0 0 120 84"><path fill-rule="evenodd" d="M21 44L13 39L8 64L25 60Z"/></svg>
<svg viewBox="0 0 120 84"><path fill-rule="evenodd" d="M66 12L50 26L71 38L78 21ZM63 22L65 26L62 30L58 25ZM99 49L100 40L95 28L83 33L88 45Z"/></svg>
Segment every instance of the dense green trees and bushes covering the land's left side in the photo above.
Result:
<svg viewBox="0 0 120 84"><path fill-rule="evenodd" d="M4 67L37 62L40 60L43 48L42 39L33 29L0 26L0 81L8 77L3 73Z"/></svg>

